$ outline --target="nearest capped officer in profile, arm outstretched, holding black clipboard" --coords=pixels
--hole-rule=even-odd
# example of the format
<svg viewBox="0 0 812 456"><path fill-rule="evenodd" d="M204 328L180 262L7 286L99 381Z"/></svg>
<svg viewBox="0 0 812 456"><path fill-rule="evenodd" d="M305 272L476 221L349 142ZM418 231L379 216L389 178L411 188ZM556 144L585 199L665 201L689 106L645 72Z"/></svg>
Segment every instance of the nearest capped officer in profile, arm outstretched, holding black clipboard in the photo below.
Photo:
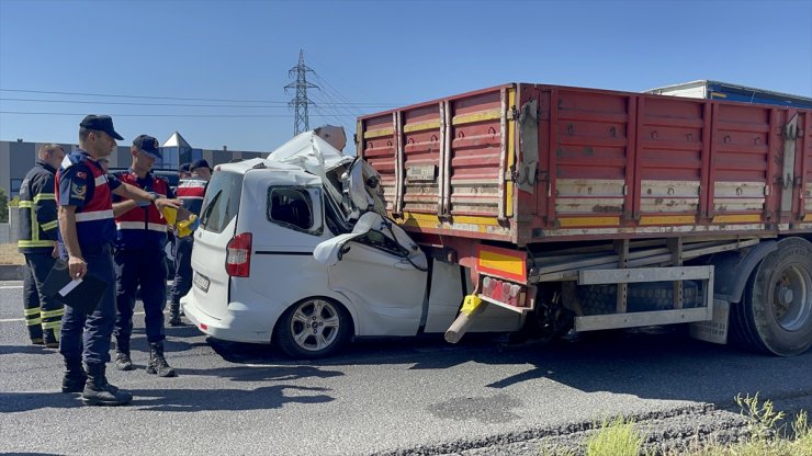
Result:
<svg viewBox="0 0 812 456"><path fill-rule="evenodd" d="M109 157L123 139L106 115L88 115L79 124L79 150L65 157L56 173L59 247L75 280L86 274L113 284L111 243L116 238L112 194L150 202L158 209L178 202L150 194L104 173L99 159ZM133 395L108 383L110 340L115 323L115 290L109 286L90 314L66 308L59 341L65 358L63 392L82 394L87 406L121 406ZM82 368L82 361L84 368Z"/></svg>

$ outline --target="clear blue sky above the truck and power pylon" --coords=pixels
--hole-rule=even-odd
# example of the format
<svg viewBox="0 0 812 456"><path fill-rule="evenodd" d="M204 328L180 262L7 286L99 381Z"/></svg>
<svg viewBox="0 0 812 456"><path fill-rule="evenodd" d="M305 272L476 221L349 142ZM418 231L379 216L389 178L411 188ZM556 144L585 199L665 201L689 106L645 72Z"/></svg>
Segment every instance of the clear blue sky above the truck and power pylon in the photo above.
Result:
<svg viewBox="0 0 812 456"><path fill-rule="evenodd" d="M323 87L311 127L350 138L359 114L514 81L812 96L812 0L0 0L0 139L76 142L94 113L124 145L178 130L198 148L271 150L293 134L283 87L300 49Z"/></svg>

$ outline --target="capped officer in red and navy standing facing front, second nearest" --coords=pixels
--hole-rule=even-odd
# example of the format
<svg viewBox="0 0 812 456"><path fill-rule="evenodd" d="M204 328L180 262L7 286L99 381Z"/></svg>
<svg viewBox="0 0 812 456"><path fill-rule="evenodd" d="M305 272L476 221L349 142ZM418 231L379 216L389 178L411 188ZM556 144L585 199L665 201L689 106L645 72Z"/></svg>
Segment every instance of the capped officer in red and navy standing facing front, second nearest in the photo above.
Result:
<svg viewBox="0 0 812 456"><path fill-rule="evenodd" d="M137 186L160 197L174 198L169 183L153 175L156 160L162 159L158 140L140 135L129 149L133 162L127 171L114 175L122 182ZM115 320L116 355L115 367L132 371L129 339L133 333L133 309L135 294L140 286L144 303L144 321L149 344L148 374L174 377L177 373L163 357L163 308L167 304L167 266L163 248L167 243L167 220L155 205L113 196L116 239L115 253L116 307Z"/></svg>

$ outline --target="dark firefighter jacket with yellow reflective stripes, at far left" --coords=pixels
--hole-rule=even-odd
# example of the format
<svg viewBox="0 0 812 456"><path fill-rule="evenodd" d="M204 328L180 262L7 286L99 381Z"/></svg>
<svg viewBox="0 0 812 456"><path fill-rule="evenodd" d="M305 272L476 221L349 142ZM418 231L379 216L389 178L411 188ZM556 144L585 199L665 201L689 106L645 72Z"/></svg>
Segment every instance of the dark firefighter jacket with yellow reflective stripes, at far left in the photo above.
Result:
<svg viewBox="0 0 812 456"><path fill-rule="evenodd" d="M20 186L20 239L22 253L50 252L59 231L50 164L36 160Z"/></svg>

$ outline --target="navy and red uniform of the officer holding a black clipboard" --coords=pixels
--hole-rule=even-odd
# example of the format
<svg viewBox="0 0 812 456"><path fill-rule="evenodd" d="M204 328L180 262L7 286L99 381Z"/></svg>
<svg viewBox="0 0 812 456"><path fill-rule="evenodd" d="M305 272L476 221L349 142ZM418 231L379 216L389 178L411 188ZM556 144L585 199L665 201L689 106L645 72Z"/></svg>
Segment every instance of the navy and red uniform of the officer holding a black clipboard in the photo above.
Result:
<svg viewBox="0 0 812 456"><path fill-rule="evenodd" d="M115 240L112 191L121 182L105 174L84 150L65 157L56 174L56 201L60 206L76 206L76 236L88 274L114 284L111 243ZM59 233L60 244L64 243ZM60 246L63 248L64 246ZM67 252L63 258L67 260ZM63 317L59 352L66 364L83 357L88 365L103 366L110 361L110 341L115 323L115 289L109 286L92 314L68 307Z"/></svg>

